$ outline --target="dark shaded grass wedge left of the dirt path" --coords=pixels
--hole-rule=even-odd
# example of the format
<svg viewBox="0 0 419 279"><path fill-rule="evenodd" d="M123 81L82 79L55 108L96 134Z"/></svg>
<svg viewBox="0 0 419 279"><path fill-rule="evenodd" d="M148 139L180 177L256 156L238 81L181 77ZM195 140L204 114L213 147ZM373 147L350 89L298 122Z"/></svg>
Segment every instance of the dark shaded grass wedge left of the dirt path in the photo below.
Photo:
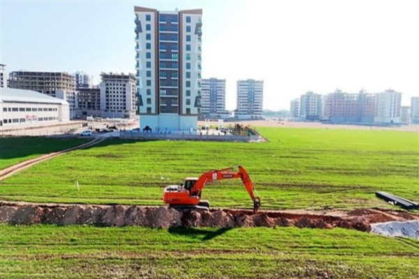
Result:
<svg viewBox="0 0 419 279"><path fill-rule="evenodd" d="M0 169L87 142L78 138L0 137Z"/></svg>

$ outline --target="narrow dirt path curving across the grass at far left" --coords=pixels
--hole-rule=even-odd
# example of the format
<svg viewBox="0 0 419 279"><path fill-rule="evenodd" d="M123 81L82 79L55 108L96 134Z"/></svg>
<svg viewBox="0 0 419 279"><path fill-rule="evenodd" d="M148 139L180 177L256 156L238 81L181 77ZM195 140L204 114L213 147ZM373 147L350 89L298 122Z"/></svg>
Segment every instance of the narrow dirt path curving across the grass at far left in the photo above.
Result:
<svg viewBox="0 0 419 279"><path fill-rule="evenodd" d="M78 146L74 146L74 147L71 147L69 149L64 149L64 150L61 150L61 151L48 153L48 154L45 154L43 156L39 156L38 158L25 160L25 161L20 162L16 165L6 167L6 169L1 169L0 170L0 181L2 181L3 179L8 178L9 176L12 176L13 174L15 174L17 172L22 171L23 169L27 169L29 167L32 167L33 165L36 165L36 164L41 163L41 162L46 161L46 160L50 160L54 157L61 156L65 153L68 153L68 152L73 151L75 149L83 149L83 148L86 148L86 147L89 147L89 146L93 146L94 144L97 144L98 142L101 142L102 140L103 140L102 138L96 138L95 140L92 140L91 142L87 142L85 144L80 144Z"/></svg>

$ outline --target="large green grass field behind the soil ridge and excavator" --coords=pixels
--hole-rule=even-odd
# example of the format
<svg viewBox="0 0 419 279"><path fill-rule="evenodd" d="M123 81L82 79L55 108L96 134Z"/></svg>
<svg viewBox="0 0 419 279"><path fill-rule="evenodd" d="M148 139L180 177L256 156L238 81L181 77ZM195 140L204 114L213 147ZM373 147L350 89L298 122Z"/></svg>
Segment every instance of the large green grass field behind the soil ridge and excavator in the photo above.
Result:
<svg viewBox="0 0 419 279"><path fill-rule="evenodd" d="M159 205L168 184L235 165L249 172L263 209L390 206L376 199L376 190L419 197L417 133L303 128L260 132L270 142L106 140L6 179L0 199ZM208 185L203 199L212 206L252 206L238 180Z"/></svg>

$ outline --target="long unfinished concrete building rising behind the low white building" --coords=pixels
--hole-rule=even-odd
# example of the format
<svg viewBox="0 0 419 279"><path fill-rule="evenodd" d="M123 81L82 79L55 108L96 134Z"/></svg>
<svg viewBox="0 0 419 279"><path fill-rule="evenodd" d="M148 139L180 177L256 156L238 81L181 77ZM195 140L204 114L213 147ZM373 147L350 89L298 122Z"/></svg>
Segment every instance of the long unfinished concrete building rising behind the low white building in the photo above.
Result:
<svg viewBox="0 0 419 279"><path fill-rule="evenodd" d="M68 73L15 71L9 75L9 87L38 91L48 96L66 100L70 106L70 118L77 110L75 78Z"/></svg>

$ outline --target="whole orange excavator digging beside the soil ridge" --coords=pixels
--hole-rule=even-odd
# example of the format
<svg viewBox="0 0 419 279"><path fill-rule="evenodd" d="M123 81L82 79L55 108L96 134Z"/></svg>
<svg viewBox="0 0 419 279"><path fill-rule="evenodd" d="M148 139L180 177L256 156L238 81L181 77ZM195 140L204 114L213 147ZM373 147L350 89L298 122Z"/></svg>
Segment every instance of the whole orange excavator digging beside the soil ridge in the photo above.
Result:
<svg viewBox="0 0 419 279"><path fill-rule="evenodd" d="M221 179L242 179L247 193L253 200L253 213L256 213L260 208L260 197L256 193L255 186L253 186L246 169L242 166L239 166L238 169L238 172L234 172L233 167L210 170L210 172L205 172L199 178L186 178L184 184L167 186L164 189L163 202L175 209L208 210L210 203L200 199L205 184Z"/></svg>

